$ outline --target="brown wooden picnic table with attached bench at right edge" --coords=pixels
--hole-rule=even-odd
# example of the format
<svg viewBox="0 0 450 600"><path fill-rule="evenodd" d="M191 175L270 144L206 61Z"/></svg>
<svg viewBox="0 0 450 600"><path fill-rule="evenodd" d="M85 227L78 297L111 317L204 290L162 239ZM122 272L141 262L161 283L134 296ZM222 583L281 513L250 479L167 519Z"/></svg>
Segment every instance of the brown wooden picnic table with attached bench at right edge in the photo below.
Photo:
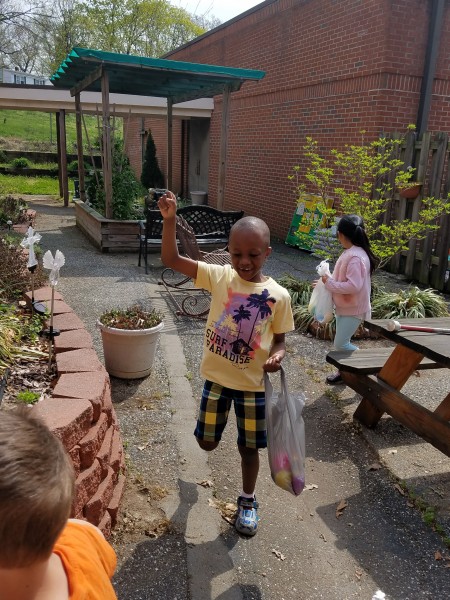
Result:
<svg viewBox="0 0 450 600"><path fill-rule="evenodd" d="M401 325L450 329L450 318L399 319ZM392 320L366 320L364 325L394 342L393 348L355 352L332 351L327 361L344 382L362 396L354 417L375 427L384 413L450 456L450 390L431 411L400 392L418 369L450 368L450 335L426 331L391 331ZM420 399L419 399L420 400Z"/></svg>

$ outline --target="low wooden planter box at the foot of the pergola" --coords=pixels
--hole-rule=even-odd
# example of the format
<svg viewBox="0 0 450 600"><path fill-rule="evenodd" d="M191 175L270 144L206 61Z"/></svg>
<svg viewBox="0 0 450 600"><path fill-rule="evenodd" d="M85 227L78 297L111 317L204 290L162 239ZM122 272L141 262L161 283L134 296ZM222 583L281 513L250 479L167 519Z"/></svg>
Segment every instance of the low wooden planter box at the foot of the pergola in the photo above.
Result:
<svg viewBox="0 0 450 600"><path fill-rule="evenodd" d="M139 221L105 219L81 200L74 200L77 227L102 252L139 249Z"/></svg>

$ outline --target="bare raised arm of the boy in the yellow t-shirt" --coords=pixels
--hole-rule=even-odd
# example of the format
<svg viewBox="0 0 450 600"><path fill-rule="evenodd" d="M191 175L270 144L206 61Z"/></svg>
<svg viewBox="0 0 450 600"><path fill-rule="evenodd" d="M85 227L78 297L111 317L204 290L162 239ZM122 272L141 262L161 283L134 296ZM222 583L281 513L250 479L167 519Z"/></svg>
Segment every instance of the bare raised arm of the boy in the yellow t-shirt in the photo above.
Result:
<svg viewBox="0 0 450 600"><path fill-rule="evenodd" d="M197 261L180 256L177 246L176 214L177 201L172 192L167 192L158 200L158 208L163 217L161 260L164 266L183 273L187 277L197 277Z"/></svg>

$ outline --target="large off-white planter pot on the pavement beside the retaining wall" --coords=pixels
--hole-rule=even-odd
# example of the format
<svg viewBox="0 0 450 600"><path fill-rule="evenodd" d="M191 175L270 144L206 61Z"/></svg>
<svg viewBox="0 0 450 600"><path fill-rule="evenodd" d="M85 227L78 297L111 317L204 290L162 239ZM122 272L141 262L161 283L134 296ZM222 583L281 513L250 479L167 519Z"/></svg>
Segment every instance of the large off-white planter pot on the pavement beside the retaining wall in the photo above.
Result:
<svg viewBox="0 0 450 600"><path fill-rule="evenodd" d="M113 377L141 379L150 374L164 323L151 329L116 329L97 321L103 341L105 368Z"/></svg>

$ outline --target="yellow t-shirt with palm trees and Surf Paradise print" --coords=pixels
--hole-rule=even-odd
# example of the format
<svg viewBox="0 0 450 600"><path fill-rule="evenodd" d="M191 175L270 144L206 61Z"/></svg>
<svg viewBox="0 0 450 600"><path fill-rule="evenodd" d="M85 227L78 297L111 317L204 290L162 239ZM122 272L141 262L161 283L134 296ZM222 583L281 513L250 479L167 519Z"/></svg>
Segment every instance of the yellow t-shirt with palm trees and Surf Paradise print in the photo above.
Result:
<svg viewBox="0 0 450 600"><path fill-rule="evenodd" d="M252 283L230 265L204 262L195 285L211 292L202 377L234 390L263 391L273 336L294 329L289 292L271 277Z"/></svg>

